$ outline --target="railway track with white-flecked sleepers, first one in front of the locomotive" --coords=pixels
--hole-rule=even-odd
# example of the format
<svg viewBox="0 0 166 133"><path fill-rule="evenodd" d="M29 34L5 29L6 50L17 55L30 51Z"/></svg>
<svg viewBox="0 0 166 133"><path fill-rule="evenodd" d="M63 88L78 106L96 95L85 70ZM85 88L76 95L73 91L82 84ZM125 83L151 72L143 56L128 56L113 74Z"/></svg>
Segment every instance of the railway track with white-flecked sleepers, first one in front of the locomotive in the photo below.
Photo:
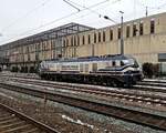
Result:
<svg viewBox="0 0 166 133"><path fill-rule="evenodd" d="M142 103L148 103L148 104L158 104L166 106L166 96L160 95L152 95L152 94L143 94L143 93L135 93L135 92L128 92L128 91L122 91L122 90L108 90L108 88L96 88L95 85L80 85L80 84L70 84L70 83L60 83L60 82L45 82L40 80L24 80L19 79L13 80L14 82L19 83L29 83L32 85L40 85L44 86L48 90L68 90L68 91L74 91L74 92L81 92L81 93L87 93L87 94L95 94L95 95L102 95L105 98L114 98L114 99L122 99L122 100L128 100L128 101L135 101L135 102L142 102Z"/></svg>

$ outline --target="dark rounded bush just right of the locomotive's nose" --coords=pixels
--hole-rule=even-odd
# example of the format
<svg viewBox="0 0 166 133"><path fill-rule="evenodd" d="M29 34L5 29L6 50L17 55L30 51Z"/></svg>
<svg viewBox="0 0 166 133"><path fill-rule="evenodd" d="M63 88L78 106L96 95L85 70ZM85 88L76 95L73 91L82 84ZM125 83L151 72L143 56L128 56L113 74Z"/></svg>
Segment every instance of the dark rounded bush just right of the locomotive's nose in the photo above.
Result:
<svg viewBox="0 0 166 133"><path fill-rule="evenodd" d="M159 65L146 62L143 64L143 73L146 78L158 76Z"/></svg>

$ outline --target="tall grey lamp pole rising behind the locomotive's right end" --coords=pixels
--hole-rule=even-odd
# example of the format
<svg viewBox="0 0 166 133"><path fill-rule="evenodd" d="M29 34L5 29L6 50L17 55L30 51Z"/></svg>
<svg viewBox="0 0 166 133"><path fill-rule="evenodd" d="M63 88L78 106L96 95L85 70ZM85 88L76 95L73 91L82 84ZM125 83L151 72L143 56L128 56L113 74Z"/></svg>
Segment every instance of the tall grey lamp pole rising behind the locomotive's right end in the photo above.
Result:
<svg viewBox="0 0 166 133"><path fill-rule="evenodd" d="M121 54L124 54L124 40L123 40L123 11L120 11L121 16Z"/></svg>

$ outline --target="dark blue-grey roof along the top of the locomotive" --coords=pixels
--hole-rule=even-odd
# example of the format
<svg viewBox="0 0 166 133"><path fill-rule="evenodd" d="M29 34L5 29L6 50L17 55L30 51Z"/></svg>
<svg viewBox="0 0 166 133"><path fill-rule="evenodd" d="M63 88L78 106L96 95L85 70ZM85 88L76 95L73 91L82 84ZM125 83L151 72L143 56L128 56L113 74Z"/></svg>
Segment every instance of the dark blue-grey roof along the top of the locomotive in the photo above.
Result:
<svg viewBox="0 0 166 133"><path fill-rule="evenodd" d="M134 59L134 58L128 54L125 54L125 55L115 54L115 55L103 55L103 57L85 57L85 58L51 60L51 61L46 61L46 62L82 62L82 61L127 60L127 59Z"/></svg>

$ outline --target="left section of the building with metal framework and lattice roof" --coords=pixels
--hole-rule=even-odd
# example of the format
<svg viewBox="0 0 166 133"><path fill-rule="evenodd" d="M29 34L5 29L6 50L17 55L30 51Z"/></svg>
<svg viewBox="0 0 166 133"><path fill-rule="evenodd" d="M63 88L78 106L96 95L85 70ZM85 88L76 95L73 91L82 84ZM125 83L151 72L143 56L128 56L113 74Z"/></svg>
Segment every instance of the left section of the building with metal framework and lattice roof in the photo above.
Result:
<svg viewBox="0 0 166 133"><path fill-rule="evenodd" d="M69 23L1 45L0 68L20 72L34 72L41 61L64 57L64 38L92 29L77 23Z"/></svg>

